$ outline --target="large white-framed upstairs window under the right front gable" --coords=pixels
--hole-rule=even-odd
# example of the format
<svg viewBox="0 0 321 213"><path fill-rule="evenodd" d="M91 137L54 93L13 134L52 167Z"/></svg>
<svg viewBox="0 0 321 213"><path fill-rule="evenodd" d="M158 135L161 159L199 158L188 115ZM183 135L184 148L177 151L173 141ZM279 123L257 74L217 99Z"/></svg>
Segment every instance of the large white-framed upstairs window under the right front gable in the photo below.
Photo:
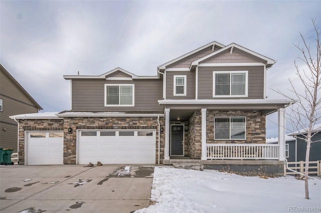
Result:
<svg viewBox="0 0 321 213"><path fill-rule="evenodd" d="M247 96L248 71L214 71L213 97Z"/></svg>

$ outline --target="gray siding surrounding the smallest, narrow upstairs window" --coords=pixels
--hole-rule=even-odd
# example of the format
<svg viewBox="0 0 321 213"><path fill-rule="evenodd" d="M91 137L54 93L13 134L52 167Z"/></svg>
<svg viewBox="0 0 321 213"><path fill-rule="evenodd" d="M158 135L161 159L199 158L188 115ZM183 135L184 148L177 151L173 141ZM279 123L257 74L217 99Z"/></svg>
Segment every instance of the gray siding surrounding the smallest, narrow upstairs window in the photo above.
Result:
<svg viewBox="0 0 321 213"><path fill-rule="evenodd" d="M186 95L174 95L174 75L186 75ZM195 99L195 71L166 71L166 99Z"/></svg>

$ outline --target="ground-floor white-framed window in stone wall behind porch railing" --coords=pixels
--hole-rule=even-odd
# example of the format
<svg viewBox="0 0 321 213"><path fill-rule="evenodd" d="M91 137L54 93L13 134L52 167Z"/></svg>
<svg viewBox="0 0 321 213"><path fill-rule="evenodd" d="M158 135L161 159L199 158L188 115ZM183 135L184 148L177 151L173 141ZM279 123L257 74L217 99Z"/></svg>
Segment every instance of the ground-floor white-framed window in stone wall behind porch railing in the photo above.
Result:
<svg viewBox="0 0 321 213"><path fill-rule="evenodd" d="M245 117L214 117L214 139L246 139Z"/></svg>

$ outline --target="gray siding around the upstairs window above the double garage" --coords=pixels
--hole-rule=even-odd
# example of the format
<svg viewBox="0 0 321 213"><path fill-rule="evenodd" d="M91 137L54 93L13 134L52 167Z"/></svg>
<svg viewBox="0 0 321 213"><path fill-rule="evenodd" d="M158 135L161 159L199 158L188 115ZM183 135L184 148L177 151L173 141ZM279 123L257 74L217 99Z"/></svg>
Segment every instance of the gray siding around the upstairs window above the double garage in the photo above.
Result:
<svg viewBox="0 0 321 213"><path fill-rule="evenodd" d="M105 84L134 84L134 106L105 106ZM72 79L73 111L163 111L161 79Z"/></svg>

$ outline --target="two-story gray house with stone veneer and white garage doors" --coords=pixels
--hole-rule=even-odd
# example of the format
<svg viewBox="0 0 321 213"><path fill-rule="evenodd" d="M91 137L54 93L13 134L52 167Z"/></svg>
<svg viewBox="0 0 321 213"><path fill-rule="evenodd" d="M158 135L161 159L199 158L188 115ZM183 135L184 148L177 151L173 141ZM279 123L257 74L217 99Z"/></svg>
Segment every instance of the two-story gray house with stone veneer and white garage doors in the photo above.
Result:
<svg viewBox="0 0 321 213"><path fill-rule="evenodd" d="M266 98L266 72L274 63L238 44L213 41L157 66L154 76L122 68L64 75L71 110L12 116L20 125L19 161L154 164L183 157L212 167L283 169L284 141L265 143L265 116L277 111L284 135L290 103Z"/></svg>

